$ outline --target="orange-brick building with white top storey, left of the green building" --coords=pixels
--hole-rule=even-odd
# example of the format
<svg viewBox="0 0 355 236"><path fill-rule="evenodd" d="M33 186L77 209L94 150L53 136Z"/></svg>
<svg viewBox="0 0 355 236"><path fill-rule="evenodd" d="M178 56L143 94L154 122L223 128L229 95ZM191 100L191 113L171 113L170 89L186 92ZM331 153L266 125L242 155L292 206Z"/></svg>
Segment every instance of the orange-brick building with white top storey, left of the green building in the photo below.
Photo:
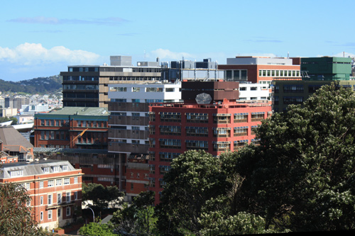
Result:
<svg viewBox="0 0 355 236"><path fill-rule="evenodd" d="M226 81L271 84L275 78L301 79L299 58L235 57L219 64Z"/></svg>

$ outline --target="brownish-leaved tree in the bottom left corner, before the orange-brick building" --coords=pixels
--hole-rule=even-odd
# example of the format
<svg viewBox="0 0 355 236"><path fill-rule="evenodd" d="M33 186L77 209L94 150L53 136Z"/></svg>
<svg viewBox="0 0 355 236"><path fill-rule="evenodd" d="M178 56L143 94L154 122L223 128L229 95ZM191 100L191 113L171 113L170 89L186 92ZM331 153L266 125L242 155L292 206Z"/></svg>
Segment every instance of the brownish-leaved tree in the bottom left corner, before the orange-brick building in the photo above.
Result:
<svg viewBox="0 0 355 236"><path fill-rule="evenodd" d="M26 203L26 189L18 184L0 185L0 235L38 235L37 223Z"/></svg>

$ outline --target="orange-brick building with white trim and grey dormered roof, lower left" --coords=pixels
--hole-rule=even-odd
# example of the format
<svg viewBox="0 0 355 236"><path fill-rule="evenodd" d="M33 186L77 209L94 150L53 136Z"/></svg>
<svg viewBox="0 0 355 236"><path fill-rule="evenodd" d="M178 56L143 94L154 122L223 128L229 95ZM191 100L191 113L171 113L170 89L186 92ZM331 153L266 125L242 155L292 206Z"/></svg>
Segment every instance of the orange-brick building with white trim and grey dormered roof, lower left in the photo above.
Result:
<svg viewBox="0 0 355 236"><path fill-rule="evenodd" d="M67 161L35 160L2 164L0 184L23 185L39 227L52 230L71 223L82 204L82 170Z"/></svg>

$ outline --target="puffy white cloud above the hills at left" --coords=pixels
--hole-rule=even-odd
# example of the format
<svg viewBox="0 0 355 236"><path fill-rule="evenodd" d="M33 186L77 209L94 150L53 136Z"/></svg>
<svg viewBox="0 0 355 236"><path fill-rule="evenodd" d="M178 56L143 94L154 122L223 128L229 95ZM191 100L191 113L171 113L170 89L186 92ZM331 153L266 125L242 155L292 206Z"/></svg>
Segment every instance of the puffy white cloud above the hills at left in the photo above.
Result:
<svg viewBox="0 0 355 236"><path fill-rule="evenodd" d="M23 65L51 64L95 64L100 56L94 52L70 50L63 46L47 49L40 43L23 43L10 49L0 47L0 60Z"/></svg>

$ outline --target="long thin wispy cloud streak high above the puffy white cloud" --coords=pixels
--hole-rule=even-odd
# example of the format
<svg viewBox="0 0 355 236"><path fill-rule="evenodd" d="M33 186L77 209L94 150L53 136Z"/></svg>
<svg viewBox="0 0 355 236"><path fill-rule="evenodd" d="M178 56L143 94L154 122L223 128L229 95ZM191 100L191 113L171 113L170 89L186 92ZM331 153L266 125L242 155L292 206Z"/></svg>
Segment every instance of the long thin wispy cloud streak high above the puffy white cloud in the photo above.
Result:
<svg viewBox="0 0 355 236"><path fill-rule="evenodd" d="M9 20L13 23L31 23L31 24L95 24L95 25L117 25L121 23L129 22L124 18L119 17L108 17L108 18L90 18L90 19L60 19L55 17L45 17L45 16L36 16L36 17L19 17Z"/></svg>

